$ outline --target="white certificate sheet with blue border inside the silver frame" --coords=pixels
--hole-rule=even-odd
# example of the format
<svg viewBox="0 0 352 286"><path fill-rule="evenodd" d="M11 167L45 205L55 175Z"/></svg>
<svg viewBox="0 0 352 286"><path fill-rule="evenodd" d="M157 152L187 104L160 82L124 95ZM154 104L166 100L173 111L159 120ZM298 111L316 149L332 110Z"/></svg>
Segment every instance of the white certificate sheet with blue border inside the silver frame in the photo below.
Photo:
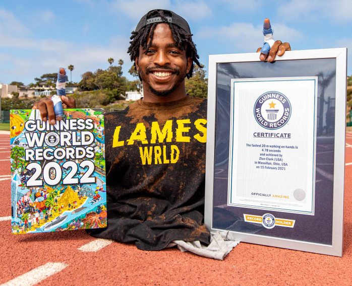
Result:
<svg viewBox="0 0 352 286"><path fill-rule="evenodd" d="M228 205L314 215L317 77L231 80Z"/></svg>

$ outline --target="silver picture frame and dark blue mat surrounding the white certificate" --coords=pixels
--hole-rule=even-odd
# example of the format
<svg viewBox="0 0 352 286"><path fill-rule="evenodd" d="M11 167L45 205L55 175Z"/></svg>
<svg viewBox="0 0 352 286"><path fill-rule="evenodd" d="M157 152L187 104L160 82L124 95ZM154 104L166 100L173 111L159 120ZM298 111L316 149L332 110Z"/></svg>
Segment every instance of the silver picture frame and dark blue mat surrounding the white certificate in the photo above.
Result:
<svg viewBox="0 0 352 286"><path fill-rule="evenodd" d="M204 221L211 233L230 231L241 242L342 256L346 61L346 48L286 51L273 63L260 61L258 53L209 55ZM231 80L278 77L318 80L314 135L318 191L315 212L309 216L286 212L295 226L268 230L248 223L244 215L255 211L261 217L270 212L280 218L280 211L229 205L227 200Z"/></svg>

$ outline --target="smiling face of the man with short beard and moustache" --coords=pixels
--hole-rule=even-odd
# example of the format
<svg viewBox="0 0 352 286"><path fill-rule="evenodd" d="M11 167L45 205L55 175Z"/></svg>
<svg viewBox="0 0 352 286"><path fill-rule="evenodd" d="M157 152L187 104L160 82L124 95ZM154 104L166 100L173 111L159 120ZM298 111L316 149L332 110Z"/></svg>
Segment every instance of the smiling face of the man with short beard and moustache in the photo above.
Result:
<svg viewBox="0 0 352 286"><path fill-rule="evenodd" d="M189 72L192 58L186 50L175 44L167 24L158 24L154 29L152 45L147 50L140 46L136 67L146 92L156 96L168 96L184 89L185 76Z"/></svg>

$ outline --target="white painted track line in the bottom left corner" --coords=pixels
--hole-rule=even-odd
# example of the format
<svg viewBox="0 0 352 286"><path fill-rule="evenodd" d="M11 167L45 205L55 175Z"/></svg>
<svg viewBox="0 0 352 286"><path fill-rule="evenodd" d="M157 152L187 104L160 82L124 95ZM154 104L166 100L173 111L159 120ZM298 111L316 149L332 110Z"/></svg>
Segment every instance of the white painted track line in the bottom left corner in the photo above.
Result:
<svg viewBox="0 0 352 286"><path fill-rule="evenodd" d="M34 268L33 270L24 273L1 286L30 286L39 283L47 277L65 269L67 264L60 262L48 262L45 265Z"/></svg>

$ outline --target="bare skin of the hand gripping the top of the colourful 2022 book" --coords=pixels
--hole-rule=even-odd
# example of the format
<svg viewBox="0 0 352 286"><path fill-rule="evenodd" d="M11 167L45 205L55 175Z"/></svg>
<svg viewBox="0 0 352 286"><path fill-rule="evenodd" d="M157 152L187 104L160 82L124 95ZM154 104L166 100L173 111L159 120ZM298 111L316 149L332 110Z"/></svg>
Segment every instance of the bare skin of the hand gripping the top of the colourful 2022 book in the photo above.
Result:
<svg viewBox="0 0 352 286"><path fill-rule="evenodd" d="M76 101L72 97L63 95L61 101L63 102L64 109L76 108ZM34 102L32 109L39 109L43 121L49 120L51 125L56 123L54 107L50 97L44 97L41 100ZM61 120L61 118L58 117L57 120Z"/></svg>

